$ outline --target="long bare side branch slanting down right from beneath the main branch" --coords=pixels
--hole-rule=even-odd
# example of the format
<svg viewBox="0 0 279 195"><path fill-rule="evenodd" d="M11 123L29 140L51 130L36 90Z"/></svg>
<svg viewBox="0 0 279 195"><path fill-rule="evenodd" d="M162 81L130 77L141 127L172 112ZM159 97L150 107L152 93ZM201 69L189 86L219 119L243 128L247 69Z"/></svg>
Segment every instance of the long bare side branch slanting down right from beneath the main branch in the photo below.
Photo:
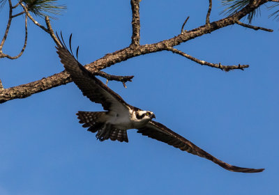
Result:
<svg viewBox="0 0 279 195"><path fill-rule="evenodd" d="M195 61L196 63L199 63L200 65L208 65L212 68L219 68L221 70L225 70L226 72L229 72L229 70L234 69L241 69L244 70L244 68L248 68L249 65L221 65L221 63L209 63L206 61L201 61L199 59L196 59L193 56L190 56L189 54L185 54L184 52L181 52L179 49L174 49L174 47L166 47L166 50L171 51L175 54L179 54L181 56L186 57L187 59L190 59L191 61Z"/></svg>

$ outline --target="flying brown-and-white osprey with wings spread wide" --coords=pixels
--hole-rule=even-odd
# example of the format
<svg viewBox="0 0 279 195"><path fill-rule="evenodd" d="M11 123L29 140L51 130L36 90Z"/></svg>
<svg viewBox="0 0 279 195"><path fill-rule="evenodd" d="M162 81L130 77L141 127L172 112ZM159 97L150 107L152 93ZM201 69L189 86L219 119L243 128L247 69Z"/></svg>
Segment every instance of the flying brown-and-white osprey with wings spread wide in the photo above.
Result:
<svg viewBox="0 0 279 195"><path fill-rule="evenodd" d="M80 88L83 95L92 102L102 104L103 109L105 109L105 111L77 112L77 118L80 119L80 123L83 123L82 127L89 127L88 131L96 133L97 139L100 141L111 139L112 141L128 142L127 130L137 129L137 132L144 136L163 141L180 150L209 159L229 171L242 173L264 171L264 169L249 169L227 164L206 153L206 151L195 146L194 143L179 134L169 130L165 125L152 120L156 118L152 111L144 111L127 104L117 93L103 84L102 81L97 79L75 59L71 48L71 37L72 35L70 35L69 40L69 52L61 34L63 42L60 41L61 46L56 47L57 54L59 54L65 70L70 73L70 77Z"/></svg>

